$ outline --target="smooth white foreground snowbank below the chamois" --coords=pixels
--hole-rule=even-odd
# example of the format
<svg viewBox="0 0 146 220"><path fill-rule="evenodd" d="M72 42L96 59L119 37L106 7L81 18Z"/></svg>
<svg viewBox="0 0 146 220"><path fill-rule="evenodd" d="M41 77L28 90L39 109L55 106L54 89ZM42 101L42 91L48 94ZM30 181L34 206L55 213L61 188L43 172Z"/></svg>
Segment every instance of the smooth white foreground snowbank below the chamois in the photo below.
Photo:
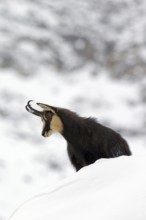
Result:
<svg viewBox="0 0 146 220"><path fill-rule="evenodd" d="M19 207L10 220L145 220L146 156L101 159Z"/></svg>

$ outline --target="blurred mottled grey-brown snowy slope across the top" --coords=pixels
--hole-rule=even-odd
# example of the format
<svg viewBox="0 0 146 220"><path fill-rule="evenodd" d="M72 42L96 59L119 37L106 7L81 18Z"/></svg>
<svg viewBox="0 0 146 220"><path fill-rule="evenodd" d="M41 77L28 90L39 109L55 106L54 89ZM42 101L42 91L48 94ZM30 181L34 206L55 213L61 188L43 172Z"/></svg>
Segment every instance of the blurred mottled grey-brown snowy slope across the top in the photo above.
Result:
<svg viewBox="0 0 146 220"><path fill-rule="evenodd" d="M0 67L40 67L138 78L146 71L145 0L1 0Z"/></svg>

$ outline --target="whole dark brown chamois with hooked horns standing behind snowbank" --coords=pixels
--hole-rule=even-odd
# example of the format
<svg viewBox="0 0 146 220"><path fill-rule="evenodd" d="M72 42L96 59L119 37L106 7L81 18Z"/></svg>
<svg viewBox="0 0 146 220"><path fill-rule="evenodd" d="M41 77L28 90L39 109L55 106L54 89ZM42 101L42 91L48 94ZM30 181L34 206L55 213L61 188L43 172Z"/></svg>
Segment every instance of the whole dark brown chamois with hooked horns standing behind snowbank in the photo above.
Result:
<svg viewBox="0 0 146 220"><path fill-rule="evenodd" d="M37 103L43 111L35 110L28 101L26 110L41 117L42 135L49 137L59 132L67 141L67 151L76 171L100 158L131 155L125 139L111 128L93 118L84 118L68 109Z"/></svg>

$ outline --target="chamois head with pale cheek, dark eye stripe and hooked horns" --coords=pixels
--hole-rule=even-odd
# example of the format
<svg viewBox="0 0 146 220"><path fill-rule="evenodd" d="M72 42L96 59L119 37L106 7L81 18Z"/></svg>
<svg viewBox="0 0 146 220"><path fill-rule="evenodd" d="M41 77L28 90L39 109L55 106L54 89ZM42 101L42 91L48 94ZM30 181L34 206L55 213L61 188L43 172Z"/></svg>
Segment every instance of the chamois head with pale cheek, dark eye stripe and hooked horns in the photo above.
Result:
<svg viewBox="0 0 146 220"><path fill-rule="evenodd" d="M43 103L36 103L43 109L43 111L38 111L32 108L30 102L32 102L32 100L28 101L25 108L28 112L41 117L41 120L43 122L42 136L49 137L55 132L62 133L63 124L61 122L61 119L57 115L57 108Z"/></svg>

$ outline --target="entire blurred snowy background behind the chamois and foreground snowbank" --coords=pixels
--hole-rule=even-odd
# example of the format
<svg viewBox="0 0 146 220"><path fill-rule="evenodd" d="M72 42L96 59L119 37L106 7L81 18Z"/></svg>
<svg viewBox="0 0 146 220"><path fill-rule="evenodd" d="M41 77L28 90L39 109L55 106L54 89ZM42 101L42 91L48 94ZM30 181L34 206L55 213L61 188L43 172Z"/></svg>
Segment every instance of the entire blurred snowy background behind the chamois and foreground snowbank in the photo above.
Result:
<svg viewBox="0 0 146 220"><path fill-rule="evenodd" d="M146 154L146 1L0 1L0 220L74 173L29 99L96 117Z"/></svg>

